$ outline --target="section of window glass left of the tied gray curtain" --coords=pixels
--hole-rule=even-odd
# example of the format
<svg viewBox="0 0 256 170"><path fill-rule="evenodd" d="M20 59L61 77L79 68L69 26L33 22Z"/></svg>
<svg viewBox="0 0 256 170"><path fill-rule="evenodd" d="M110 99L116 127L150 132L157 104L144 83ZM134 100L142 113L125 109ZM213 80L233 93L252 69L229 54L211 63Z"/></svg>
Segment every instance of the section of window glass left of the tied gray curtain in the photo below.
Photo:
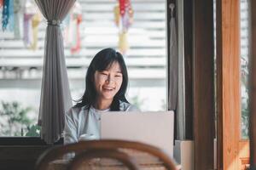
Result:
<svg viewBox="0 0 256 170"><path fill-rule="evenodd" d="M44 35L37 29L44 26L39 24L39 15L29 14L38 10L32 3L27 4L25 14L25 2L10 1L9 15L4 15L8 20L3 20L0 8L0 136L40 133L37 120ZM3 22L8 23L4 31Z"/></svg>

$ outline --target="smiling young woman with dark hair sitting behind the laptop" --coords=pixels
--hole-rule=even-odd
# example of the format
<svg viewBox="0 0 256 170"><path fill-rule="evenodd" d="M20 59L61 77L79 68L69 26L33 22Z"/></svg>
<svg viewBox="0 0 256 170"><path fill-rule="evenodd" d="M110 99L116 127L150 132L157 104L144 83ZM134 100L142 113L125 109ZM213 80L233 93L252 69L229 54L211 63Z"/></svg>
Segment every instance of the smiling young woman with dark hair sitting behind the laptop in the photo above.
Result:
<svg viewBox="0 0 256 170"><path fill-rule="evenodd" d="M100 114L106 111L137 111L125 99L128 74L122 54L102 49L92 59L85 77L85 92L66 114L64 144L79 139L99 139Z"/></svg>

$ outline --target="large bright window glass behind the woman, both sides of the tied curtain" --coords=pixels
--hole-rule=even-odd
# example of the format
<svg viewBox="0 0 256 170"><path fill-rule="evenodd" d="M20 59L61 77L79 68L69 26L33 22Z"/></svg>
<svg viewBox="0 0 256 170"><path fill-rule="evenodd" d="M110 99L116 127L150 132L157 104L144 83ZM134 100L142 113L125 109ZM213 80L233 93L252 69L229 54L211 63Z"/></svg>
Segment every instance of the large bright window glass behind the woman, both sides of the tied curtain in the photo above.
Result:
<svg viewBox="0 0 256 170"><path fill-rule="evenodd" d="M39 135L46 20L37 14L34 1L19 2L7 30L0 28L0 136ZM84 93L85 73L96 52L127 45L128 100L141 111L166 110L166 1L131 1L131 26L121 37L116 24L120 18L114 13L117 1L77 2L61 24L73 99ZM2 14L0 8L0 23Z"/></svg>

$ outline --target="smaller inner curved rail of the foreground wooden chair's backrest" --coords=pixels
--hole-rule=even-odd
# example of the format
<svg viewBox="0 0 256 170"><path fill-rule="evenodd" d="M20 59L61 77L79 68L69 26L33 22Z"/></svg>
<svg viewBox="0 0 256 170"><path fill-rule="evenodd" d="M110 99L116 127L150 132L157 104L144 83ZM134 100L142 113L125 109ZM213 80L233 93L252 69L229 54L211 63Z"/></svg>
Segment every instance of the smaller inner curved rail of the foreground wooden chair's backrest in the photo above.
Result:
<svg viewBox="0 0 256 170"><path fill-rule="evenodd" d="M91 161L94 158L113 159L121 162L123 167L128 167L128 169L130 170L139 169L137 162L131 156L128 156L124 152L121 152L119 150L98 150L98 149L86 150L84 152L79 153L79 155L73 158L73 160L70 162L67 169L79 170L79 168L81 167L83 167L83 169L96 169L96 168L92 168L95 166L90 166L90 163L89 163L89 161Z"/></svg>

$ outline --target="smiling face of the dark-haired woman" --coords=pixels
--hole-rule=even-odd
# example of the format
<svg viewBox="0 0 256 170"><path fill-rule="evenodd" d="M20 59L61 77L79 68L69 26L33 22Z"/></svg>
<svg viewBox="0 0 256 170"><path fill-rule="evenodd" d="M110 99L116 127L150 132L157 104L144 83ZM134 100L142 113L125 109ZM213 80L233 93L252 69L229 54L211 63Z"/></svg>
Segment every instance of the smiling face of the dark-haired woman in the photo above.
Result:
<svg viewBox="0 0 256 170"><path fill-rule="evenodd" d="M113 62L105 71L96 71L94 75L97 100L113 100L123 82L123 74L118 62Z"/></svg>

